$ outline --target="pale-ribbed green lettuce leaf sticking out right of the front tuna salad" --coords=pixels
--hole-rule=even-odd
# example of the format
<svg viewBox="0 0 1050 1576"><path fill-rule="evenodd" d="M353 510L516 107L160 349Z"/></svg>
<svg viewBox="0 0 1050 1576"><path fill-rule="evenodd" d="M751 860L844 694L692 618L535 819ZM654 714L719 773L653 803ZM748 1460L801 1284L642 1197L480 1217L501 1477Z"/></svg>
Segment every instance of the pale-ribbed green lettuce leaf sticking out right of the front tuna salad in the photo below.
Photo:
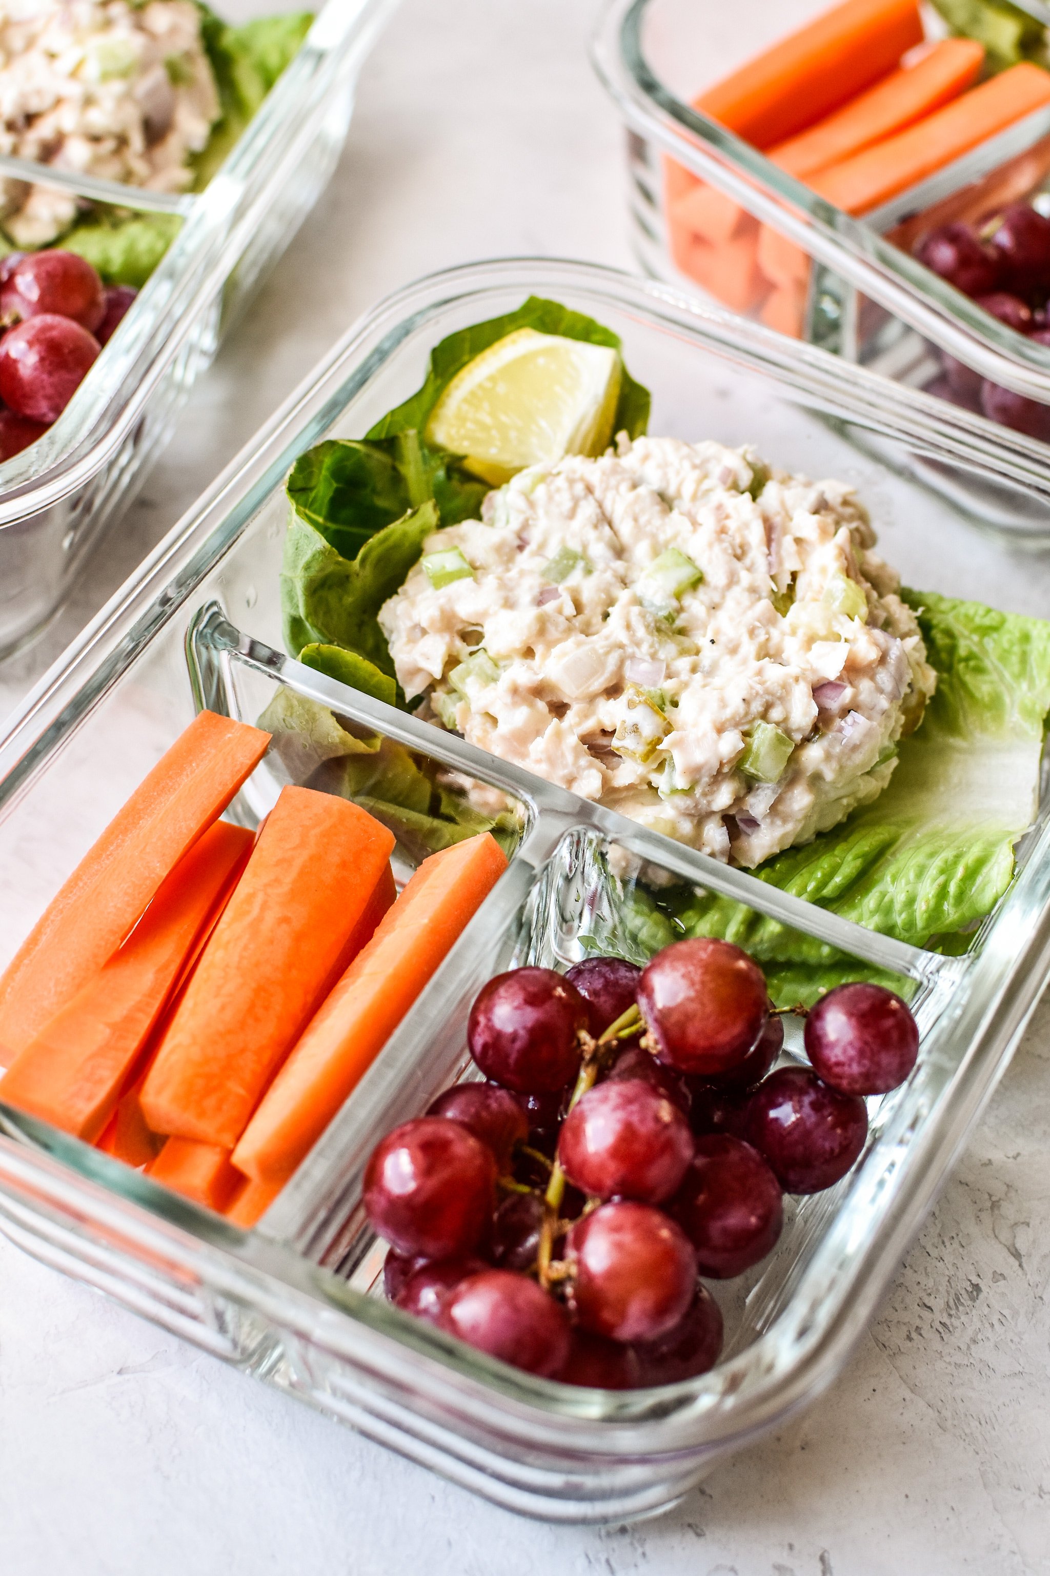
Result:
<svg viewBox="0 0 1050 1576"><path fill-rule="evenodd" d="M869 930L956 953L1006 892L1014 845L1036 816L1050 624L932 593L904 596L938 684L889 786L754 873ZM844 968L860 977L845 953L729 898L678 887L656 905L683 935L745 947L792 1001L803 979L804 994L820 994Z"/></svg>

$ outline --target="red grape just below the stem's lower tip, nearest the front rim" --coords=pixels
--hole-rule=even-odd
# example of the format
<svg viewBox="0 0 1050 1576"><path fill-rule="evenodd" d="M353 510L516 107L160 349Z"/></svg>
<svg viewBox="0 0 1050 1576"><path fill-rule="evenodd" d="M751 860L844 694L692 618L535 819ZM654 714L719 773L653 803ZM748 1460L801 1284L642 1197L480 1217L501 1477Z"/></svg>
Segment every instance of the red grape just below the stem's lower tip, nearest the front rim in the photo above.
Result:
<svg viewBox="0 0 1050 1576"><path fill-rule="evenodd" d="M535 1281L510 1270L482 1270L460 1281L439 1324L490 1357L545 1379L557 1379L568 1360L565 1310Z"/></svg>

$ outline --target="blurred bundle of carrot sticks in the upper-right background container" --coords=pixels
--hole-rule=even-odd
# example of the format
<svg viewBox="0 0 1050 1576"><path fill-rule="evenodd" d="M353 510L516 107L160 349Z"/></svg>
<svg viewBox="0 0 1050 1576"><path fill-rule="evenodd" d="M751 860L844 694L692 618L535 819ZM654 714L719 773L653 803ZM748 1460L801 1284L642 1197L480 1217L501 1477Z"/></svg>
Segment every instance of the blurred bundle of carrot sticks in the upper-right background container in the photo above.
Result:
<svg viewBox="0 0 1050 1576"><path fill-rule="evenodd" d="M978 82L984 47L926 43L918 0L845 0L694 102L820 197L861 216L1050 104L1028 61ZM809 257L724 192L664 161L677 268L734 312L801 337Z"/></svg>

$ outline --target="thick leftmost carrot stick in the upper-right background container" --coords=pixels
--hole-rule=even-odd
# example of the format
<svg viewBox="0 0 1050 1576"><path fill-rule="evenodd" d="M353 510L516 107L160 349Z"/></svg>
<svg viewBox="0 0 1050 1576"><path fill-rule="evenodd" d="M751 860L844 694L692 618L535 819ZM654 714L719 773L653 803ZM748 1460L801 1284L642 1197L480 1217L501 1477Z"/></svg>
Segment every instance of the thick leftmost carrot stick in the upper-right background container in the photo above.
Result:
<svg viewBox="0 0 1050 1576"><path fill-rule="evenodd" d="M845 0L694 102L756 148L770 148L878 82L921 43L916 0Z"/></svg>

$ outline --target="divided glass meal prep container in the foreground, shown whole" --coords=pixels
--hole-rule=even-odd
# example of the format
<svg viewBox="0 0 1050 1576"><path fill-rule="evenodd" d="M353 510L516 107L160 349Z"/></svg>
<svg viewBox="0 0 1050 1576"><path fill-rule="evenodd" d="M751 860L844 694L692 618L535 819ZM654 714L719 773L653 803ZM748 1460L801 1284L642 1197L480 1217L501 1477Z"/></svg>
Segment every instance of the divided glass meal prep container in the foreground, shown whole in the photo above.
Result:
<svg viewBox="0 0 1050 1576"><path fill-rule="evenodd" d="M516 851L253 1231L9 1106L0 1106L0 1229L501 1505L560 1521L619 1521L672 1504L842 1366L1044 985L1050 823L1044 801L996 911L963 957L941 957L786 895L280 652L283 479L294 459L323 437L364 433L417 388L434 344L529 295L622 336L627 366L653 392L653 433L752 441L771 462L855 484L886 558L915 585L1019 611L1045 599L1050 567L1004 559L910 474L908 457L967 465L1042 507L1050 479L1026 473L1009 444L982 452L982 432L946 429L922 394L593 266L480 263L403 290L348 333L8 725L0 963L195 709L255 720L282 686L439 769L502 790L518 807ZM957 418L973 426L965 413ZM899 455L894 466L889 452ZM280 780L271 752L230 815L255 826ZM405 876L412 849L395 857ZM565 968L582 955L584 938L642 960L667 938L638 925L633 900L666 881L740 898L897 972L913 994L922 1050L907 1084L869 1102L860 1165L833 1190L787 1201L773 1256L715 1286L727 1325L715 1370L660 1390L571 1388L505 1368L383 1300L383 1243L362 1215L362 1168L394 1124L464 1075L466 1015L486 979L526 961Z"/></svg>

